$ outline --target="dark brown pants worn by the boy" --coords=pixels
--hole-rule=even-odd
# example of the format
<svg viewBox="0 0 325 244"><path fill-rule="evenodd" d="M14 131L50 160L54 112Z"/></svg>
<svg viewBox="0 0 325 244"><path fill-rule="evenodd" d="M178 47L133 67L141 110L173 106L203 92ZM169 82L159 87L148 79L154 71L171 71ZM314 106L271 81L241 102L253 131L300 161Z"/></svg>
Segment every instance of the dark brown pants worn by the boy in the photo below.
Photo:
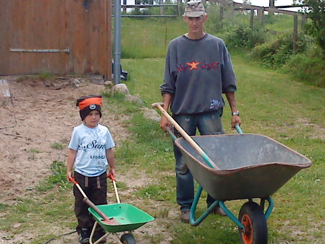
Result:
<svg viewBox="0 0 325 244"><path fill-rule="evenodd" d="M95 205L107 204L107 174L106 172L100 176L87 177L78 172L74 174L75 180L79 183L80 187ZM83 196L76 186L73 188L75 196L75 214L78 219L77 232L81 232L81 228L92 229L95 223L94 218L88 211L88 204L83 201ZM100 227L100 225L98 225Z"/></svg>

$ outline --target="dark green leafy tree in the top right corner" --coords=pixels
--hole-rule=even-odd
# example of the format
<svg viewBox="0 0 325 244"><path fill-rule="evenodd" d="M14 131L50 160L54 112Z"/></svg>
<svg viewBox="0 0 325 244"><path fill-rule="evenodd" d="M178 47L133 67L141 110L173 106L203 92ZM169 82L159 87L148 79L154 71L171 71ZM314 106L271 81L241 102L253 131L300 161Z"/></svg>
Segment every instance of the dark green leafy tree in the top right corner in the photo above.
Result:
<svg viewBox="0 0 325 244"><path fill-rule="evenodd" d="M318 45L325 51L325 1L324 0L299 0L296 4L305 5L304 12L312 20L309 33L317 40Z"/></svg>

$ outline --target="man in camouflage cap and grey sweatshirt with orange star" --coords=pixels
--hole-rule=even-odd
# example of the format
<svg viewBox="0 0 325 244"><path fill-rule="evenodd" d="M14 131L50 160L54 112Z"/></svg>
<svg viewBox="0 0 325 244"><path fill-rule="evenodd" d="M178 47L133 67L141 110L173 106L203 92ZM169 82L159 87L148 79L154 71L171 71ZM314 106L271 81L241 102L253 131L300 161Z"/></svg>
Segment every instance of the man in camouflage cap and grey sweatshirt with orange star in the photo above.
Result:
<svg viewBox="0 0 325 244"><path fill-rule="evenodd" d="M223 134L221 115L225 94L232 111L232 129L240 125L236 108L236 77L224 42L204 32L208 15L200 1L186 3L184 21L188 33L172 40L168 46L164 84L160 85L164 109L171 108L173 118L187 132L195 135ZM163 115L160 127L166 132L170 122ZM180 134L176 131L179 137ZM193 177L180 149L174 145L176 159L177 203L181 206L181 220L189 222L189 210L194 198ZM215 199L208 195L207 205ZM218 206L215 214L224 215Z"/></svg>

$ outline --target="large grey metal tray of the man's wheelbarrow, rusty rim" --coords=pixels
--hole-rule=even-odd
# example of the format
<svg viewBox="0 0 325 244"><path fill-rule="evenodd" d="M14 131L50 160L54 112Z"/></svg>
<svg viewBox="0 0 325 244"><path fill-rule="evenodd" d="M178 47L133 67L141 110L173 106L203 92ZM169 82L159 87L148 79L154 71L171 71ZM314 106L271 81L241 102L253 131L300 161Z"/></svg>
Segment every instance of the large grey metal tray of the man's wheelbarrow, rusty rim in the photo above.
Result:
<svg viewBox="0 0 325 244"><path fill-rule="evenodd" d="M180 148L193 177L214 199L266 198L311 161L293 149L263 135L192 136L218 166L213 169L184 139Z"/></svg>

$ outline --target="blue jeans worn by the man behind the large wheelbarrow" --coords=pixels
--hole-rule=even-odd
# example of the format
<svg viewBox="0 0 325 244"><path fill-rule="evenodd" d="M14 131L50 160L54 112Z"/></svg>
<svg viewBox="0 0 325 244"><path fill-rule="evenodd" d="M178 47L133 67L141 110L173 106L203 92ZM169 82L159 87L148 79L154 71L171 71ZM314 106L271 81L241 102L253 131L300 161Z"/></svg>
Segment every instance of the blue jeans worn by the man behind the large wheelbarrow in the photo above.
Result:
<svg viewBox="0 0 325 244"><path fill-rule="evenodd" d="M222 109L208 113L198 114L173 114L175 121L190 136L196 134L197 129L201 135L220 135L224 134L221 124ZM179 132L174 128L177 137L181 137ZM181 206L181 211L189 210L194 199L193 176L189 172L181 150L174 144L174 155L176 159L176 200ZM215 199L209 194L207 205L210 206Z"/></svg>

